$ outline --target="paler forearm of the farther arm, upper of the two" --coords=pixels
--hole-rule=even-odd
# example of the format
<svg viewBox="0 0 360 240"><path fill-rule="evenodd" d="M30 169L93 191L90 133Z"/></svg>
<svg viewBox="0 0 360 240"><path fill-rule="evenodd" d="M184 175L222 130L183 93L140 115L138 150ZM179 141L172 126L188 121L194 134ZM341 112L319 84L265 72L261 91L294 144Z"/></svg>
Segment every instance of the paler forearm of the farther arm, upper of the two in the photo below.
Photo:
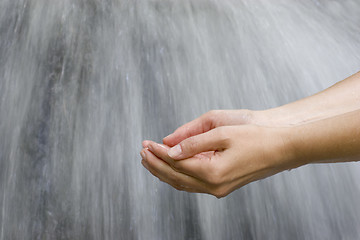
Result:
<svg viewBox="0 0 360 240"><path fill-rule="evenodd" d="M360 72L313 96L260 111L271 125L298 125L360 109Z"/></svg>

